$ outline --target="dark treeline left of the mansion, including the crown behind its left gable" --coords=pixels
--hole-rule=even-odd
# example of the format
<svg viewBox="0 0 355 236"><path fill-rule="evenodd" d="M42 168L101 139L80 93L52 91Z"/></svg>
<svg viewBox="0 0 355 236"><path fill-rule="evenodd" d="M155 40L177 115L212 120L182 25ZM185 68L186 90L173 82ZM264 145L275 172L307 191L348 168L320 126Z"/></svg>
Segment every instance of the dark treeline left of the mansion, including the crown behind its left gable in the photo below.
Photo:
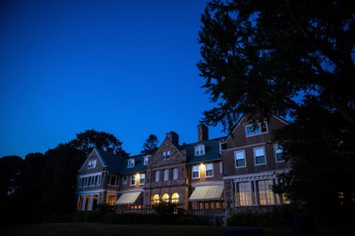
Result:
<svg viewBox="0 0 355 236"><path fill-rule="evenodd" d="M69 220L75 210L77 170L94 146L128 154L113 135L86 130L45 153L0 158L2 224Z"/></svg>

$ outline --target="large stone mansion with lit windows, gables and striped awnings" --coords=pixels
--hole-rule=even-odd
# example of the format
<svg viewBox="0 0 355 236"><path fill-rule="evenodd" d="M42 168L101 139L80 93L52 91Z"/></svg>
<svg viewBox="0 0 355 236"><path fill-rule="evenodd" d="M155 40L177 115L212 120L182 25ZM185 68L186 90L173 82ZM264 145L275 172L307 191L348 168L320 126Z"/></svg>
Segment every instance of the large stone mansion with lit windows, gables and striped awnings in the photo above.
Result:
<svg viewBox="0 0 355 236"><path fill-rule="evenodd" d="M78 171L77 210L109 204L116 212L142 211L165 201L191 213L221 215L283 204L271 186L289 163L271 135L287 124L276 116L251 124L244 116L228 137L209 139L200 124L197 142L180 145L170 131L150 154L122 157L95 148Z"/></svg>

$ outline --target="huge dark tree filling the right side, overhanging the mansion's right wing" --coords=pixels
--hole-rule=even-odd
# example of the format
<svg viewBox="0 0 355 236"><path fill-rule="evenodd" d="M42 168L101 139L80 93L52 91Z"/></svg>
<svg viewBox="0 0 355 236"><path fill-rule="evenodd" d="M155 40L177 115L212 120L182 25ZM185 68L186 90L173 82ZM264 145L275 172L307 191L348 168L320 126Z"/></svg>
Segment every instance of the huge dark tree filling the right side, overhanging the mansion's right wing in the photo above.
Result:
<svg viewBox="0 0 355 236"><path fill-rule="evenodd" d="M275 191L318 219L353 216L355 11L338 1L213 1L201 16L203 122L231 130L241 114L291 124L275 133L291 170ZM324 206L327 205L327 210ZM336 213L336 214L334 214ZM339 214L341 216L339 216ZM351 216L351 217L350 217Z"/></svg>

